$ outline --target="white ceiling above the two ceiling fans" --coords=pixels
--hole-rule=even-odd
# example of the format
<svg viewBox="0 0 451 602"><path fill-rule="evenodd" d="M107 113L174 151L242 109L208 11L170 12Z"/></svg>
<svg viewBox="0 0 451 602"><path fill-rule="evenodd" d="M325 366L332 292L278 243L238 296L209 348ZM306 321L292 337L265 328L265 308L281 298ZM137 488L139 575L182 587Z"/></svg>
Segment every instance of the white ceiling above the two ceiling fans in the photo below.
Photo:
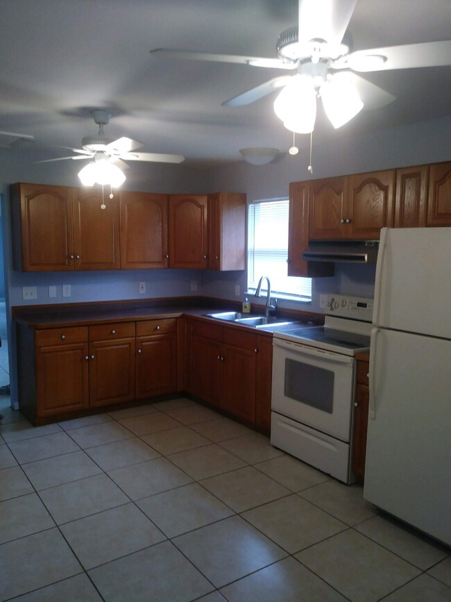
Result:
<svg viewBox="0 0 451 602"><path fill-rule="evenodd" d="M27 155L65 156L53 145L80 147L97 132L89 111L108 108L108 136L141 140L142 151L183 154L187 165L239 160L243 147L287 151L292 138L274 115L273 94L221 106L286 72L149 51L275 58L297 8L297 0L0 0L0 131L34 135L35 142L13 144ZM358 0L349 29L355 50L449 40L451 1ZM323 140L451 114L451 67L365 77L397 100L337 131L319 115Z"/></svg>

